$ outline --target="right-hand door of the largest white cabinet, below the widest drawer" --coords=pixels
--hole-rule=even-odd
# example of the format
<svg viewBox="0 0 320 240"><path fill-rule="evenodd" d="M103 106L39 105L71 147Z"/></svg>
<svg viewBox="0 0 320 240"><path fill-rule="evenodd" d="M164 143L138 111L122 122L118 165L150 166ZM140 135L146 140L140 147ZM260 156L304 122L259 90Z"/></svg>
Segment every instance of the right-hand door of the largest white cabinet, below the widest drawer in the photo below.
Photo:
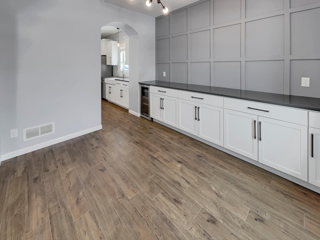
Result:
<svg viewBox="0 0 320 240"><path fill-rule="evenodd" d="M307 181L307 126L259 116L258 161Z"/></svg>

